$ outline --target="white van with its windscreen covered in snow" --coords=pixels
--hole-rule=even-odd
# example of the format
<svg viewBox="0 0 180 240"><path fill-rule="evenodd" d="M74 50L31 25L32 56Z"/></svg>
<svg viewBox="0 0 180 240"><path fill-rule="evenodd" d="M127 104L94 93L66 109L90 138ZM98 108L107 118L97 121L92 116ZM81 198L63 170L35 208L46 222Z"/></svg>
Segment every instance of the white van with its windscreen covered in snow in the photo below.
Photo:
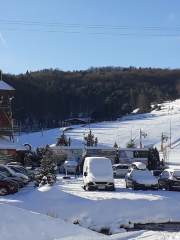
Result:
<svg viewBox="0 0 180 240"><path fill-rule="evenodd" d="M115 191L111 160L105 157L86 157L83 181L85 190Z"/></svg>

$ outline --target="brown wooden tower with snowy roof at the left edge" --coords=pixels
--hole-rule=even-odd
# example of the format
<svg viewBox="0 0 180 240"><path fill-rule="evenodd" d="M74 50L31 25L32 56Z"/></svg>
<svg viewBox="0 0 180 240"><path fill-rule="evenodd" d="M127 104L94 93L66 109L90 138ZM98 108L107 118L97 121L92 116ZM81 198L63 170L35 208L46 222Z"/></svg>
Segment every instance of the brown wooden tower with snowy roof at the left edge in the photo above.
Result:
<svg viewBox="0 0 180 240"><path fill-rule="evenodd" d="M14 126L11 111L11 101L14 98L15 89L2 80L0 70L0 136L9 136L14 142Z"/></svg>

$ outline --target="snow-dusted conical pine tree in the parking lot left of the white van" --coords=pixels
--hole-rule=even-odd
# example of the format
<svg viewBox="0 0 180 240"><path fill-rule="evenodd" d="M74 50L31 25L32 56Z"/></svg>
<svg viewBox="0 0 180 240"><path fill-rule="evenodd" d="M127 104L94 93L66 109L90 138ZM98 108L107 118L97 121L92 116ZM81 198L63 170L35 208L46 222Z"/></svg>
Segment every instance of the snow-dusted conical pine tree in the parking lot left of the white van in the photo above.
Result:
<svg viewBox="0 0 180 240"><path fill-rule="evenodd" d="M52 149L47 144L45 148L43 148L43 157L37 174L35 186L46 184L52 186L54 184L56 181L57 166L53 160Z"/></svg>

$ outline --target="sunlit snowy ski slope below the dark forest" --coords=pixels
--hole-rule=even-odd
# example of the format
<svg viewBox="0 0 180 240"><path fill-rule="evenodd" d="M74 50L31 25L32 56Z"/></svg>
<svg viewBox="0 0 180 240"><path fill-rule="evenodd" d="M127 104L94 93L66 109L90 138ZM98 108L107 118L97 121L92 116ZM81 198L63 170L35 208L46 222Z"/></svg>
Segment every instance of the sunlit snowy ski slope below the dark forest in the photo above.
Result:
<svg viewBox="0 0 180 240"><path fill-rule="evenodd" d="M170 144L169 161L177 162L173 152L179 149L180 144L180 99L173 102L161 104L161 110L152 111L147 114L137 114L124 116L114 122L94 123L91 125L71 126L73 130L66 131L67 137L71 137L72 146L83 146L84 134L89 133L89 129L98 138L98 146L113 147L116 142L118 146L124 148L132 137L137 146L140 145L140 129L147 133L147 137L142 139L143 147L155 146L161 150L161 136L168 137L164 146ZM29 143L33 148L45 146L47 143L56 143L57 138L62 134L62 129L53 129L43 132L21 135L17 141L21 144Z"/></svg>

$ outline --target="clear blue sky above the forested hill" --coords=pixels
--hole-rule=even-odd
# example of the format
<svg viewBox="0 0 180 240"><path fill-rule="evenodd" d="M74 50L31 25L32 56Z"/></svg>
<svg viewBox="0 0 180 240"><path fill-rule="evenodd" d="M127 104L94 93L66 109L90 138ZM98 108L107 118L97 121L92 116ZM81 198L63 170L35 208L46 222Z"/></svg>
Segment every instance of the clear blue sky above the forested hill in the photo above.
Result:
<svg viewBox="0 0 180 240"><path fill-rule="evenodd" d="M0 69L179 68L179 0L1 1Z"/></svg>

